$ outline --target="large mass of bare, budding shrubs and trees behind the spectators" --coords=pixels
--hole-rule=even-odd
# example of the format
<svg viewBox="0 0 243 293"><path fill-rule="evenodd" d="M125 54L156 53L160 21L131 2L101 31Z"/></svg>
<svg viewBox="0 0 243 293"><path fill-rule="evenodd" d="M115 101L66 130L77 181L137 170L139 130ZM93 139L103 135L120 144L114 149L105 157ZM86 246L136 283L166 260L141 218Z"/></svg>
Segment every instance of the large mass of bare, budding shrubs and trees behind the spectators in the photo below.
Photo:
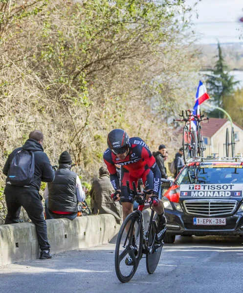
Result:
<svg viewBox="0 0 243 293"><path fill-rule="evenodd" d="M112 128L156 148L172 139L167 117L199 68L188 12L184 0L1 1L0 164L40 129L53 165L67 149L88 182Z"/></svg>

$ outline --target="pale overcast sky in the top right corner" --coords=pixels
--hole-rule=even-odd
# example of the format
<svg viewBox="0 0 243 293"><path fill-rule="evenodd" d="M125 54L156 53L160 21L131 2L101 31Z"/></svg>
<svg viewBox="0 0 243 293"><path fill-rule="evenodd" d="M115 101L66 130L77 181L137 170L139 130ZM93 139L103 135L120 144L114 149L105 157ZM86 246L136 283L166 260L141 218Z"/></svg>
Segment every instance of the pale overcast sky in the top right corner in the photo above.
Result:
<svg viewBox="0 0 243 293"><path fill-rule="evenodd" d="M195 0L186 0L192 5ZM195 30L200 34L199 43L243 42L239 40L243 28L243 0L201 0L195 10L193 21Z"/></svg>

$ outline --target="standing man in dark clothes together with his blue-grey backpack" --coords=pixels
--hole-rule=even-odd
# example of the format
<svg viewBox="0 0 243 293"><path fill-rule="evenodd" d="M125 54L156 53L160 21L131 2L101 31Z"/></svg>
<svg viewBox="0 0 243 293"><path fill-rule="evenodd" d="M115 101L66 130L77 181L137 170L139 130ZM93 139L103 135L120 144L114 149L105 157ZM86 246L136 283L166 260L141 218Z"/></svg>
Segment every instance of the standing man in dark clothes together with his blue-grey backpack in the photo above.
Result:
<svg viewBox="0 0 243 293"><path fill-rule="evenodd" d="M42 196L39 193L41 182L52 182L54 170L43 149L44 135L41 131L30 132L29 139L22 147L16 148L3 167L7 176L4 189L7 215L5 225L19 222L21 207L36 226L41 249L40 259L51 258L47 240L46 222Z"/></svg>

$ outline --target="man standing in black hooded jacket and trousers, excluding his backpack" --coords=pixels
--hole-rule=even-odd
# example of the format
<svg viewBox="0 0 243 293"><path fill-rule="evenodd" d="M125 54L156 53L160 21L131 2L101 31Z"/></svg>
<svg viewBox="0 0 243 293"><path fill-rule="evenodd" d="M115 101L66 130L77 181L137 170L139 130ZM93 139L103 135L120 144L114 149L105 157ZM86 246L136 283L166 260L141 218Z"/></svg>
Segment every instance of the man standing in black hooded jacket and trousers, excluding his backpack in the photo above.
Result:
<svg viewBox="0 0 243 293"><path fill-rule="evenodd" d="M44 220L42 196L39 194L41 182L54 180L54 171L50 161L43 149L44 136L41 131L30 132L29 139L22 147L16 148L9 156L3 167L3 174L7 176L4 194L7 204L7 216L5 224L19 222L20 210L23 207L31 221L36 226L37 238L41 249L40 259L51 258L50 245L47 240L46 222ZM17 152L20 150L31 151L34 154L35 171L34 180L29 186L17 187L11 185L9 180L10 164Z"/></svg>

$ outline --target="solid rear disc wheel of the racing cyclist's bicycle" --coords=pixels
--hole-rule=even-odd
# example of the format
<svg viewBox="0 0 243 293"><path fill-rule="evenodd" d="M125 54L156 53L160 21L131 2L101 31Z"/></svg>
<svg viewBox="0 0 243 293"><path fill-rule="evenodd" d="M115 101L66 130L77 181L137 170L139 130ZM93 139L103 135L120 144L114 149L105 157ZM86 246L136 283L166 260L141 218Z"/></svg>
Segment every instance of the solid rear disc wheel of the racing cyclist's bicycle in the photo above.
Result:
<svg viewBox="0 0 243 293"><path fill-rule="evenodd" d="M148 273L153 273L155 272L163 244L162 242L157 242L155 237L156 237L156 231L157 231L157 221L158 217L155 215L154 220L151 225L151 229L149 231L149 237L148 237L148 251L146 254L146 269Z"/></svg>

